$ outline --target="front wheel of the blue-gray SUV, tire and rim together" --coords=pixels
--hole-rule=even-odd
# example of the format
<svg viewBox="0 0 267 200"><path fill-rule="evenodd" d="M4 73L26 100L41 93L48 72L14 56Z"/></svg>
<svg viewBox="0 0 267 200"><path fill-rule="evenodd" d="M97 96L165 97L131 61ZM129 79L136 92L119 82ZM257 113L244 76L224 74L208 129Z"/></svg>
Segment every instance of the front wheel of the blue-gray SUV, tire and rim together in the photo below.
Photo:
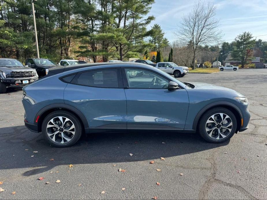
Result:
<svg viewBox="0 0 267 200"><path fill-rule="evenodd" d="M223 121L220 114L223 114ZM222 121L221 125L217 123L217 126L215 122L212 122L212 116L216 122L220 123ZM227 129L223 129L222 127L226 127ZM230 110L224 107L215 107L201 116L198 131L200 136L210 143L223 143L228 141L234 135L236 127L236 117ZM220 133L218 130L220 130Z"/></svg>

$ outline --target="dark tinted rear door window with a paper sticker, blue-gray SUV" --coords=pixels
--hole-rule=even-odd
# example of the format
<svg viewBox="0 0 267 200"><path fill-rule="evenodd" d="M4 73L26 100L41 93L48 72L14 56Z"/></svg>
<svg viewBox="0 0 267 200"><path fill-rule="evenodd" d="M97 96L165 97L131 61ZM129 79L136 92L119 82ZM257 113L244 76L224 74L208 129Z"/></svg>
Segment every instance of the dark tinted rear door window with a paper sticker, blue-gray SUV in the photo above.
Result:
<svg viewBox="0 0 267 200"><path fill-rule="evenodd" d="M104 87L104 88L118 88L118 71L117 69L101 69L94 71L86 71L80 73L76 80L76 84Z"/></svg>

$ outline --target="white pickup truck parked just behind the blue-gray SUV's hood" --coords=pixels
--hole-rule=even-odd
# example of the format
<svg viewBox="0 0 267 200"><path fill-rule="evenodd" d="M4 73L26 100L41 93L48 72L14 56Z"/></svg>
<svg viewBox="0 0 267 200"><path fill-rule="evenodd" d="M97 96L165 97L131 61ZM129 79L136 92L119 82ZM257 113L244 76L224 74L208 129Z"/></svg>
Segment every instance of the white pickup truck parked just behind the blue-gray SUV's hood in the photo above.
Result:
<svg viewBox="0 0 267 200"><path fill-rule="evenodd" d="M189 72L188 67L178 66L172 62L157 63L156 68L173 75L175 78L184 76Z"/></svg>

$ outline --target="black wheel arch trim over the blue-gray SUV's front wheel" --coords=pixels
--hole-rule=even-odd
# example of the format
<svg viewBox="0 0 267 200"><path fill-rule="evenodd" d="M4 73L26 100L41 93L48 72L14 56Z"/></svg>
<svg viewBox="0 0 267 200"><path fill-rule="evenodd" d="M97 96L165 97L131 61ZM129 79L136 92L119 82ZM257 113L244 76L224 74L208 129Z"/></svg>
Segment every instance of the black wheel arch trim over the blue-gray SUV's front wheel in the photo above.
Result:
<svg viewBox="0 0 267 200"><path fill-rule="evenodd" d="M234 103L231 103L231 102L227 102L227 101L217 101L217 102L214 102L214 103L210 103L209 105L206 105L205 107L203 107L199 112L198 114L196 115L195 119L194 119L194 122L193 122L193 130L197 130L197 124L199 122L199 119L200 117L202 116L202 114L204 112L206 112L207 110L209 110L210 108L212 107L215 107L215 106L230 106L232 107L233 109L235 109L238 113L239 113L239 116L240 116L240 119L243 118L243 115L242 115L242 112L241 110L239 109L239 107L237 107L237 105L235 105ZM241 127L240 127L241 128Z"/></svg>

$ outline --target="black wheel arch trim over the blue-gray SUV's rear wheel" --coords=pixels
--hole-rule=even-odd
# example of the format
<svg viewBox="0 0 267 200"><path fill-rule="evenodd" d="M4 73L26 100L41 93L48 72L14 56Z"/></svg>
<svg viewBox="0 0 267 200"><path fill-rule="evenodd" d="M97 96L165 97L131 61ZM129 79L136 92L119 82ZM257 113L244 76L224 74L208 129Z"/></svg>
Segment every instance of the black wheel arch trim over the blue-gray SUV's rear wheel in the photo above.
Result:
<svg viewBox="0 0 267 200"><path fill-rule="evenodd" d="M77 108L73 107L72 105L68 105L65 103L54 103L54 104L50 104L50 105L43 107L36 114L35 119L34 119L34 124L38 125L38 122L35 122L38 115L42 116L42 114L44 114L44 112L46 112L50 109L53 109L53 108L64 108L64 109L67 109L67 110L74 112L81 119L81 121L83 123L83 127L85 129L85 133L89 133L89 125L88 125L88 122L87 122L84 114L80 110L78 110Z"/></svg>

